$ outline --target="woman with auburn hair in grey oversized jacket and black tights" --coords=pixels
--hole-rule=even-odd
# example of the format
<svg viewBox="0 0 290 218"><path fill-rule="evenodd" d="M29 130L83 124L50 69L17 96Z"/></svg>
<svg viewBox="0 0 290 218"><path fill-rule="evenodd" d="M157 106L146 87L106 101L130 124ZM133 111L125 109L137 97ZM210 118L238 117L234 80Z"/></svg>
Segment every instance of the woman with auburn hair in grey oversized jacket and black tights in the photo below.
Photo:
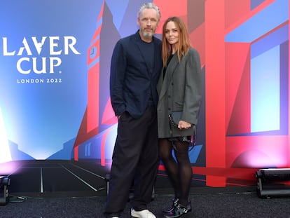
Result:
<svg viewBox="0 0 290 218"><path fill-rule="evenodd" d="M195 134L202 95L200 56L190 46L186 25L178 17L168 18L163 25L163 71L157 89L158 153L172 183L175 197L172 206L163 209L164 217L181 217L191 211L188 198L192 169L188 145ZM169 116L181 114L177 125ZM172 156L174 149L175 161Z"/></svg>

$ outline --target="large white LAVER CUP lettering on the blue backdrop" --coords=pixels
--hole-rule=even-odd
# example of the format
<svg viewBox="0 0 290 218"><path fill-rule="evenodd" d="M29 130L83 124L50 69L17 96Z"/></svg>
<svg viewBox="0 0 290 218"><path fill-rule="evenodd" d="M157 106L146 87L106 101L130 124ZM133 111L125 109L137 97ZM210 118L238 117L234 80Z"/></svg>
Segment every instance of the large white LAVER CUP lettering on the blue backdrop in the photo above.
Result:
<svg viewBox="0 0 290 218"><path fill-rule="evenodd" d="M12 46L7 37L2 38L3 55L19 56L16 68L20 74L54 74L61 73L62 55L81 55L76 50L74 36L42 36L41 39L24 37L18 48ZM13 48L14 47L14 48Z"/></svg>

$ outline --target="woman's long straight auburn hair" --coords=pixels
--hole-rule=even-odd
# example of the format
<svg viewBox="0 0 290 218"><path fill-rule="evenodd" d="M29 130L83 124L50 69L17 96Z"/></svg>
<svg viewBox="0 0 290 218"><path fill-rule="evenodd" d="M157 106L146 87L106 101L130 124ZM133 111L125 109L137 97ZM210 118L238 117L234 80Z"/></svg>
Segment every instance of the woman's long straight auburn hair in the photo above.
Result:
<svg viewBox="0 0 290 218"><path fill-rule="evenodd" d="M177 27L177 31L179 32L179 42L177 48L177 57L180 62L181 57L188 53L189 48L191 48L191 42L189 40L188 30L184 21L179 17L170 17L168 18L163 25L163 33L162 33L162 59L163 59L163 67L167 67L167 60L171 53L170 43L167 42L165 37L165 29L168 22L174 22Z"/></svg>

